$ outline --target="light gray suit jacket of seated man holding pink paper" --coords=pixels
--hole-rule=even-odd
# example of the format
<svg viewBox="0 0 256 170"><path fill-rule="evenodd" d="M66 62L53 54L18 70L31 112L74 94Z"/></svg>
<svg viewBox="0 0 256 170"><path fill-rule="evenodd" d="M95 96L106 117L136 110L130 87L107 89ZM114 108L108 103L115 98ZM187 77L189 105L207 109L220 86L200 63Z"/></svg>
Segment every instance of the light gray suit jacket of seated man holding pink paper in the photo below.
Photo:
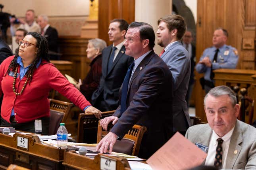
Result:
<svg viewBox="0 0 256 170"><path fill-rule="evenodd" d="M194 144L198 142L208 146L211 135L212 128L202 124L190 127L185 137ZM237 120L229 144L226 169L256 170L256 128Z"/></svg>

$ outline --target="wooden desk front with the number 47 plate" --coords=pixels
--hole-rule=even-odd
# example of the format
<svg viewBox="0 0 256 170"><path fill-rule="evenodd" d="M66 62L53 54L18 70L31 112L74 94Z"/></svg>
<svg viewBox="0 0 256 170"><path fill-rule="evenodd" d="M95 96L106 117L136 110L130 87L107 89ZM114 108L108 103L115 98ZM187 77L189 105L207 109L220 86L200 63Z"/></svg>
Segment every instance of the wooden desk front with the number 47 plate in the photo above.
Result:
<svg viewBox="0 0 256 170"><path fill-rule="evenodd" d="M94 159L90 159L75 153L75 151L65 151L62 164L65 166L65 170L99 170L101 156L102 154L98 154ZM116 161L116 170L131 170L127 159L108 155L103 156Z"/></svg>

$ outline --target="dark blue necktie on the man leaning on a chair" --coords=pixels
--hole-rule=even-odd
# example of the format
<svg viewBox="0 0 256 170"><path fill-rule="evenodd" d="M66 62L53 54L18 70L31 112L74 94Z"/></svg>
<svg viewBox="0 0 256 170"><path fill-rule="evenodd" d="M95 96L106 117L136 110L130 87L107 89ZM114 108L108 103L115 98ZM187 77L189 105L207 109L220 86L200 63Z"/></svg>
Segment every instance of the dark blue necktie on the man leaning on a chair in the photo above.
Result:
<svg viewBox="0 0 256 170"><path fill-rule="evenodd" d="M134 62L129 66L125 79L123 80L123 88L122 88L122 94L121 94L121 114L123 114L123 112L127 109L126 97L127 97L128 85L131 77L131 72L133 71L133 67L134 67Z"/></svg>

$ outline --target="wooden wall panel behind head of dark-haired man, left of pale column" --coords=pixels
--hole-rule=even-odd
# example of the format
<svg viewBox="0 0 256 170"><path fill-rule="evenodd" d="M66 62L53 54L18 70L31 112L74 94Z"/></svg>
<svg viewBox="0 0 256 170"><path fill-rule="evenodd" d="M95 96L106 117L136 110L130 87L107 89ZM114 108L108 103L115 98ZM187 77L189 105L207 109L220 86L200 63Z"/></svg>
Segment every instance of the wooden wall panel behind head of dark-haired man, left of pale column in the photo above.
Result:
<svg viewBox="0 0 256 170"><path fill-rule="evenodd" d="M135 0L99 0L99 35L108 45L108 26L112 19L125 19L129 24L135 19Z"/></svg>

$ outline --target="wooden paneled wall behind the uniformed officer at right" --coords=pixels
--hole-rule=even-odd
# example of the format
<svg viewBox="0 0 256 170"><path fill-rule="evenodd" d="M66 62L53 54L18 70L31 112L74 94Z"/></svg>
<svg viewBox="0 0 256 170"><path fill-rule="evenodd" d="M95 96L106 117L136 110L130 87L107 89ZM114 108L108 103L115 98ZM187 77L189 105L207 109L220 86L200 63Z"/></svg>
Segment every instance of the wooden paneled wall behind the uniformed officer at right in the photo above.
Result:
<svg viewBox="0 0 256 170"><path fill-rule="evenodd" d="M196 25L196 62L202 52L212 46L212 35L216 28L223 27L229 32L227 45L237 48L239 69L255 69L255 0L198 0ZM196 74L196 115L206 121L203 97L199 79L203 74Z"/></svg>

